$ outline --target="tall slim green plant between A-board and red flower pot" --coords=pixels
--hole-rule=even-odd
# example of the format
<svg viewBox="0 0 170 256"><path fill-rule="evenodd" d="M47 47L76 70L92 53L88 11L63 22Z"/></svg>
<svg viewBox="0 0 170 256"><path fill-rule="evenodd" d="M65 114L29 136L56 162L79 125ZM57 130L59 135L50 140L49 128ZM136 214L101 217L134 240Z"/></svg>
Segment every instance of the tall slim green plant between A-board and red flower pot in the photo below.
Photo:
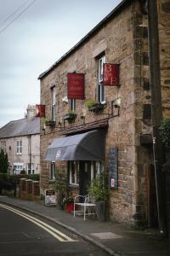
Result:
<svg viewBox="0 0 170 256"><path fill-rule="evenodd" d="M66 194L66 180L62 176L62 172L59 170L55 170L55 179L53 183L53 189L57 192L57 207L59 209L63 210L63 198L65 197Z"/></svg>

